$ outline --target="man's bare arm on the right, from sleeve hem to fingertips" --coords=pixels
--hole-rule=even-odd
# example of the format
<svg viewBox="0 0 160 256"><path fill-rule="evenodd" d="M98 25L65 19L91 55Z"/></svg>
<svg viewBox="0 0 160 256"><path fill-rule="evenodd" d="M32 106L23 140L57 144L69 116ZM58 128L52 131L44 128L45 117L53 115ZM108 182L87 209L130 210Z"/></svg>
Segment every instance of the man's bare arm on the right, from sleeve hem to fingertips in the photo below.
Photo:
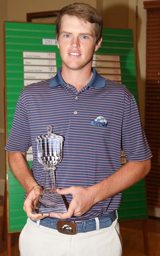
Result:
<svg viewBox="0 0 160 256"><path fill-rule="evenodd" d="M62 195L72 194L73 199L67 213L51 213L50 216L67 219L71 216L81 216L94 204L114 196L122 190L129 188L150 171L150 159L145 161L128 162L117 172L91 187L70 187L57 189Z"/></svg>

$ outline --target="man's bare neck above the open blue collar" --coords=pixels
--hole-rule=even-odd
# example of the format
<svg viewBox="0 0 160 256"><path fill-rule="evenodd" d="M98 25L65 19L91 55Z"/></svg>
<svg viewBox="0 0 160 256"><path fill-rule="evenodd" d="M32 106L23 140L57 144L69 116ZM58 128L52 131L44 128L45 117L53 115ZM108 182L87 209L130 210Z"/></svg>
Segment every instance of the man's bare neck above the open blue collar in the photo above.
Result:
<svg viewBox="0 0 160 256"><path fill-rule="evenodd" d="M92 62L88 64L90 65L86 65L84 68L79 70L72 70L66 67L66 65L62 62L61 76L63 80L66 83L73 85L76 90L79 91L89 83L93 76Z"/></svg>

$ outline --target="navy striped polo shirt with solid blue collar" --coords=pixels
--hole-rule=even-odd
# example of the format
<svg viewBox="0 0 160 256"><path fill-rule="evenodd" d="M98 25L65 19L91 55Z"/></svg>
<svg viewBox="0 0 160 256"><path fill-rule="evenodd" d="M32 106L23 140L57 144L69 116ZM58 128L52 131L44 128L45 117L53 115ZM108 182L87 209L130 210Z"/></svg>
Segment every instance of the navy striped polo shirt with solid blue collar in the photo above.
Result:
<svg viewBox="0 0 160 256"><path fill-rule="evenodd" d="M94 68L92 79L79 92L63 80L59 69L52 79L30 84L20 93L5 149L24 153L32 145L32 173L42 186L45 171L37 159L36 136L45 134L49 124L64 137L63 158L55 171L57 188L88 187L106 179L121 168L121 148L128 161L152 156L133 95ZM121 196L68 220L108 214L119 208ZM72 195L65 197L69 205Z"/></svg>

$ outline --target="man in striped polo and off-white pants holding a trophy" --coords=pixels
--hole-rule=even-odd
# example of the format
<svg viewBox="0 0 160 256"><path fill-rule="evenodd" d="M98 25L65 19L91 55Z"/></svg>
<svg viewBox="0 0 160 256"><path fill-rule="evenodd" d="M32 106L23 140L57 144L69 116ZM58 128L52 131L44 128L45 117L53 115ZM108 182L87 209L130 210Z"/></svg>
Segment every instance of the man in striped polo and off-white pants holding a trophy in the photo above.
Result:
<svg viewBox="0 0 160 256"><path fill-rule="evenodd" d="M134 97L128 89L92 69L101 45L102 20L91 6L64 7L56 20L62 69L55 77L24 88L6 145L10 168L24 187L29 217L19 248L25 255L122 255L116 209L121 191L150 170L151 152ZM44 185L35 138L46 126L64 136L57 166L57 192L66 197L67 213L32 214ZM32 172L26 151L32 145ZM128 163L121 168L121 148ZM76 235L57 231L58 220L77 226ZM68 233L70 233L68 231Z"/></svg>

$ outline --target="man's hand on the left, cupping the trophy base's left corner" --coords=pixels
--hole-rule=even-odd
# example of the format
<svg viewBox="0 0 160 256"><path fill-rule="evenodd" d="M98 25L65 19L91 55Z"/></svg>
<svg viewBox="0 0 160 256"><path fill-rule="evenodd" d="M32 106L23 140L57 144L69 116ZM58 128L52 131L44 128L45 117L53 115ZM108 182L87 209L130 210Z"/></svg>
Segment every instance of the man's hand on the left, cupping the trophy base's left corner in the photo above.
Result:
<svg viewBox="0 0 160 256"><path fill-rule="evenodd" d="M36 213L32 214L33 212L33 207L36 202L37 196L40 195L42 191L42 187L40 186L35 186L29 193L28 196L26 197L24 201L24 206L23 209L26 212L27 216L30 217L32 220L41 220L47 216L49 216L49 213Z"/></svg>

